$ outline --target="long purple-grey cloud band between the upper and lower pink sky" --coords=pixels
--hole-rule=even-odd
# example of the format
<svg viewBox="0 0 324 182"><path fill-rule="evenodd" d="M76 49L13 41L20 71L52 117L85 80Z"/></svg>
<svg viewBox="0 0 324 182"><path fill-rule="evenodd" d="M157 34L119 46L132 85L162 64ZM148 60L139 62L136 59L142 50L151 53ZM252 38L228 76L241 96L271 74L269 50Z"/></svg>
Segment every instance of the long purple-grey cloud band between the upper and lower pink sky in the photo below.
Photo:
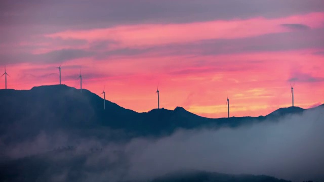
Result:
<svg viewBox="0 0 324 182"><path fill-rule="evenodd" d="M173 42L166 45L155 44L127 48L118 48L120 44L117 41L102 40L90 43L89 48L60 49L42 54L4 53L2 55L0 54L0 64L8 65L26 62L61 63L63 61L87 57L93 57L95 60L106 61L111 57L159 57L179 55L206 56L258 52L281 52L302 49L322 49L324 48L323 37L323 29L319 28L312 29L307 32L294 31L271 33L255 37L206 39L186 43ZM67 40L72 41L65 45L70 47L74 40ZM79 40L76 39L74 43L77 42L79 42ZM83 41L80 40L80 42ZM39 48L41 48L41 45ZM321 52L317 52L316 54L320 55L320 53Z"/></svg>

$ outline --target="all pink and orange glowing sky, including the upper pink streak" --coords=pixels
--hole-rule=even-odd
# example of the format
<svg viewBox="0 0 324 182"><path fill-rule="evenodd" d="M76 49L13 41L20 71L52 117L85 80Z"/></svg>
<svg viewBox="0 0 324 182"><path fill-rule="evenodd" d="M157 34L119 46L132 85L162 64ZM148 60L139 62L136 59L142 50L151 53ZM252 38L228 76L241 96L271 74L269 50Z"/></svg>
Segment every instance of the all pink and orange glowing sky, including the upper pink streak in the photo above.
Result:
<svg viewBox="0 0 324 182"><path fill-rule="evenodd" d="M324 100L324 54L314 54L323 52L324 46L317 48L310 43L309 48L259 51L259 47L254 48L253 44L250 46L253 49L247 46L247 51L240 51L235 50L234 44L226 44L222 47L224 53L220 54L203 53L199 50L203 49L200 44L192 51L181 46L204 40L234 40L294 32L280 26L287 23L303 24L311 30L323 29L322 22L324 13L310 13L273 19L255 17L183 24L118 25L44 33L38 36L48 38L42 40L45 42L15 44L22 48L35 45L35 48L28 52L32 57L26 59L30 60L7 64L10 75L8 88L30 89L58 84L56 67L63 62L62 84L79 88L77 77L81 70L83 88L101 96L105 86L107 100L137 112L157 107L155 92L159 85L161 108L173 110L181 106L200 116L226 117L228 93L230 116L267 115L278 108L291 106L290 83L294 82L289 81L291 78L297 79L295 106L309 108L322 104ZM62 45L51 42L54 40L85 40L85 43ZM95 47L97 41L110 42ZM282 42L272 43L279 47ZM180 47L173 50L172 45ZM6 47L5 44L1 46ZM293 43L291 47L294 47ZM70 59L56 62L42 57L47 53L54 58L60 57L52 52L62 49L83 50L85 53L76 52L68 55ZM132 49L143 52L133 53ZM238 52L226 52L231 49ZM120 50L130 53L114 55L109 52ZM35 61L36 56L41 57ZM4 77L0 81L1 89L5 87Z"/></svg>

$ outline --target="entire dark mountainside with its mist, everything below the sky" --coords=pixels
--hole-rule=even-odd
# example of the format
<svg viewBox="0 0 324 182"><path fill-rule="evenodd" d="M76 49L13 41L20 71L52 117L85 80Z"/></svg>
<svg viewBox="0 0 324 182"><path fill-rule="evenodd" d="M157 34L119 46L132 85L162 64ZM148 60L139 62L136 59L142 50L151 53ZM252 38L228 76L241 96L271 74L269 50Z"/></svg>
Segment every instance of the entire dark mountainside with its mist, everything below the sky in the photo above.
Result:
<svg viewBox="0 0 324 182"><path fill-rule="evenodd" d="M323 105L210 119L103 110L66 85L0 90L0 100L1 181L324 181Z"/></svg>

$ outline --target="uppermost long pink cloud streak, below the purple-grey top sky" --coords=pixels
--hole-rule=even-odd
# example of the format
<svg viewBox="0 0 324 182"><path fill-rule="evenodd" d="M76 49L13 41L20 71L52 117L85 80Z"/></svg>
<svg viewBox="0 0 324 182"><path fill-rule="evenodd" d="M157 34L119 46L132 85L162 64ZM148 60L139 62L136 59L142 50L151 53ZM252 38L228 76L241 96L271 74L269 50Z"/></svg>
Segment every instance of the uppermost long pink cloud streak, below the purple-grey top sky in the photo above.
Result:
<svg viewBox="0 0 324 182"><path fill-rule="evenodd" d="M318 22L310 22L316 18ZM301 21L312 28L321 27L319 20L324 19L323 13L311 13L291 17L265 19L251 18L247 20L214 20L183 24L137 24L121 25L110 28L91 30L69 30L52 34L47 37L62 39L87 39L88 41L117 41L118 47L138 47L164 45L170 43L187 43L205 39L234 39L259 36L268 33L287 32L277 25L287 21ZM239 29L239 31L237 31ZM254 31L251 31L253 29ZM161 31L163 30L163 31Z"/></svg>

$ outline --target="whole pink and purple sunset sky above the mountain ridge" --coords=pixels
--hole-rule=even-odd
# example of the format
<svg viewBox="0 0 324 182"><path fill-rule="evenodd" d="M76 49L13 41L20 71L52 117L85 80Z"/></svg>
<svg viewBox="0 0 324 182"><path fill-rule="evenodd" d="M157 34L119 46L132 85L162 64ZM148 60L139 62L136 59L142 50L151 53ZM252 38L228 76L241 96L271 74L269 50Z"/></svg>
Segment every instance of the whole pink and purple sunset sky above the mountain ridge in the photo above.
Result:
<svg viewBox="0 0 324 182"><path fill-rule="evenodd" d="M266 115L324 101L322 0L1 1L8 88L59 83L137 112ZM3 74L3 73L2 73ZM5 77L0 78L5 88Z"/></svg>

